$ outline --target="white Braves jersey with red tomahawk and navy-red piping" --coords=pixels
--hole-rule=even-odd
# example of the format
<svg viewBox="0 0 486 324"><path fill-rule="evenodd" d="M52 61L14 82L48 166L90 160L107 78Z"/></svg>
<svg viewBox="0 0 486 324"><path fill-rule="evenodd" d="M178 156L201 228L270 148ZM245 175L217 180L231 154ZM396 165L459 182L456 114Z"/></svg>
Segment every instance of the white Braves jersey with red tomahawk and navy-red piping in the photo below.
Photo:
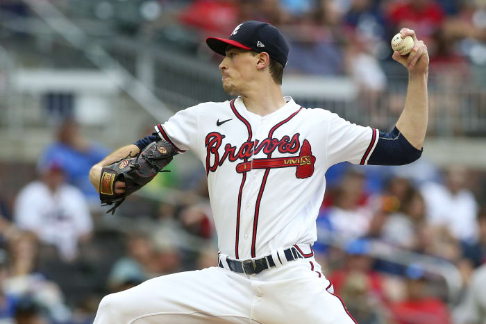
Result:
<svg viewBox="0 0 486 324"><path fill-rule="evenodd" d="M324 173L338 162L367 164L378 142L374 128L285 101L263 117L240 97L201 103L156 126L162 139L203 162L219 250L236 259L312 246Z"/></svg>

